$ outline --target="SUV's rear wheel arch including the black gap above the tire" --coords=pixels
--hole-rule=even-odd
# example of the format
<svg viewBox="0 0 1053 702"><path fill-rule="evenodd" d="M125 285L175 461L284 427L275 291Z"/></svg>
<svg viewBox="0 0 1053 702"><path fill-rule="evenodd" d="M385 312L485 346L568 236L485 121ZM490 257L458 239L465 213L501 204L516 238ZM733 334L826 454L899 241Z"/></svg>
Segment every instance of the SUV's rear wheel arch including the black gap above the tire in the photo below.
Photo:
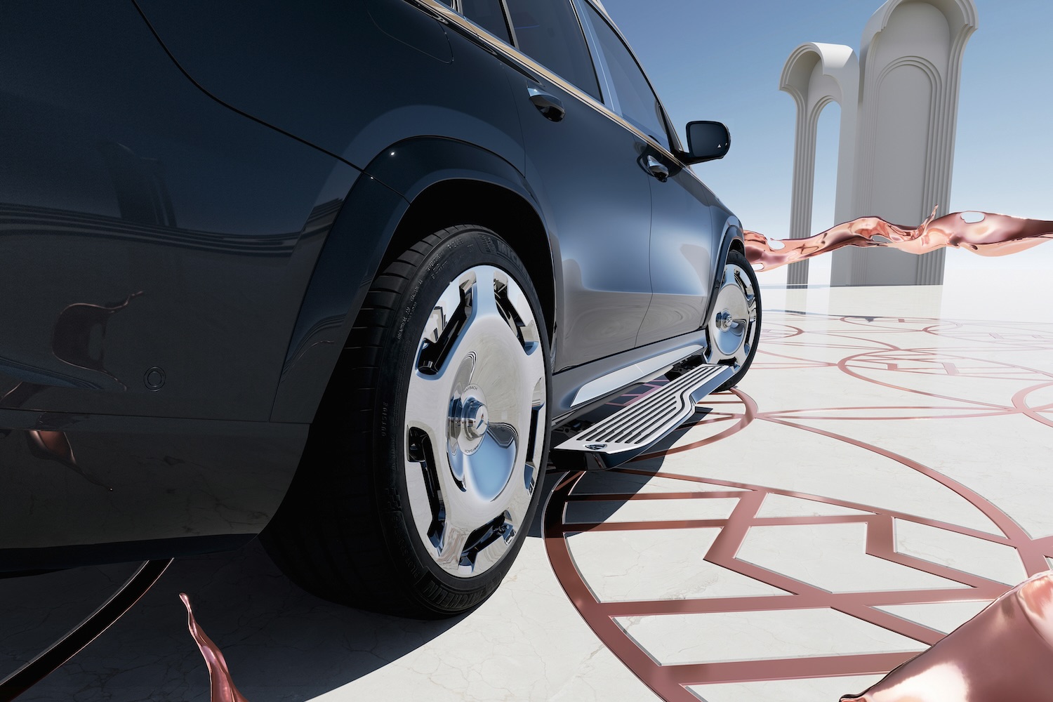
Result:
<svg viewBox="0 0 1053 702"><path fill-rule="evenodd" d="M272 421L314 419L377 273L414 242L452 224L480 224L508 241L531 274L554 343L558 244L539 209L519 171L492 152L443 138L414 138L384 148L363 169L321 245Z"/></svg>

